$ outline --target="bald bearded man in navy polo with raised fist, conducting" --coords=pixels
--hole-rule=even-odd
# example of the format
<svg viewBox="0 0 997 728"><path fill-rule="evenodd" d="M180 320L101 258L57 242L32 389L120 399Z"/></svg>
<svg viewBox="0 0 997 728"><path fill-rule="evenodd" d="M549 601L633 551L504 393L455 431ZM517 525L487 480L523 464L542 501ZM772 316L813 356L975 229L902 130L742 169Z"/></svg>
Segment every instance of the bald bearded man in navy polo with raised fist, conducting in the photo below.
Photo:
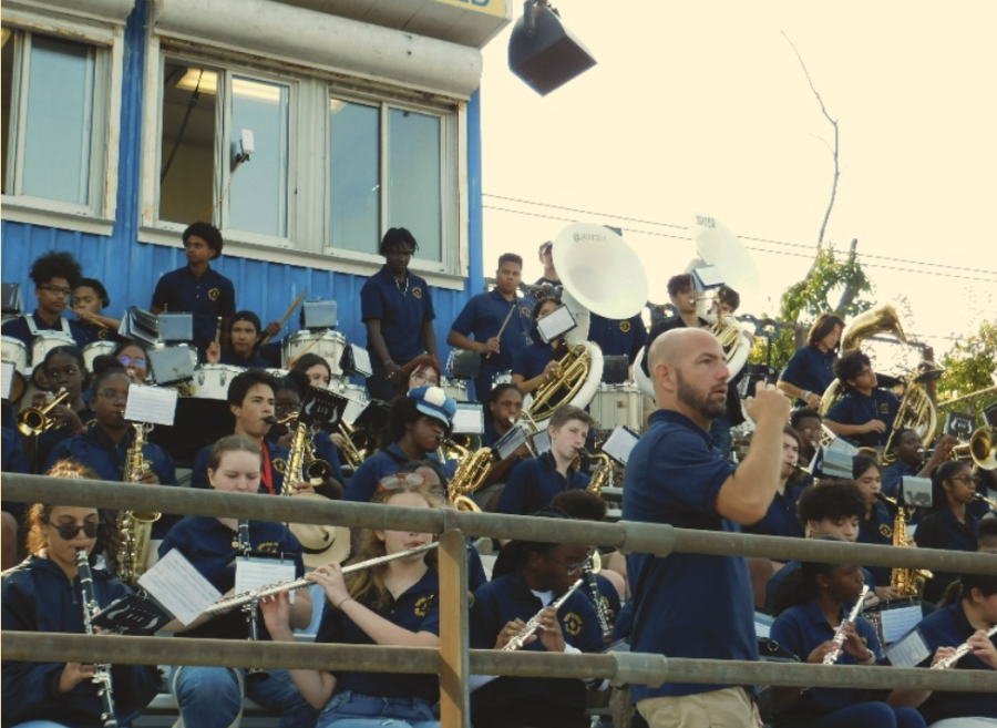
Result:
<svg viewBox="0 0 997 728"><path fill-rule="evenodd" d="M658 409L627 462L624 520L721 532L760 521L779 486L789 400L774 386L758 383L744 403L756 422L751 449L734 469L710 450L708 434L712 419L724 412L730 377L717 338L697 329L667 331L651 345L648 365ZM627 573L634 652L758 659L744 557L630 554ZM705 711L724 716L717 724L724 727L756 726L752 696L739 686L665 683L630 690L655 728L693 725Z"/></svg>

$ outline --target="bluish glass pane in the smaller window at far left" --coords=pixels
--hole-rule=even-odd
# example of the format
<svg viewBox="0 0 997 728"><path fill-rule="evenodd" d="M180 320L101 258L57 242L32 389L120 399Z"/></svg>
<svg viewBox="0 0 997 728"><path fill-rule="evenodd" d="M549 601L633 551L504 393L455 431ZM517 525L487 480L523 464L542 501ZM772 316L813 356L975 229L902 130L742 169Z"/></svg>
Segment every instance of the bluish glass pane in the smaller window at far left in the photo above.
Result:
<svg viewBox="0 0 997 728"><path fill-rule="evenodd" d="M21 192L85 205L90 196L94 49L34 35L29 63Z"/></svg>

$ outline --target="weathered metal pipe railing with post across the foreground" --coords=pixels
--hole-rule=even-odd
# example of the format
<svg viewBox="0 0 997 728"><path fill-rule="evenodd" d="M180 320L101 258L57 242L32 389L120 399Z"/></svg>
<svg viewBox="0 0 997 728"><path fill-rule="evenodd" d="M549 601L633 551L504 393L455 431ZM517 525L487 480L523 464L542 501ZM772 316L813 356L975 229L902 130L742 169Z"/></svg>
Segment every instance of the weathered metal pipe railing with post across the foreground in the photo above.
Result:
<svg viewBox="0 0 997 728"><path fill-rule="evenodd" d="M121 664L218 665L431 673L441 677L441 724L467 725L469 677L608 678L616 685L703 683L798 687L897 687L997 693L997 671L870 669L669 658L640 653L559 655L469 649L465 536L524 539L548 543L597 543L624 553L666 556L672 552L743 555L790 561L862 563L868 566L922 567L942 572L997 574L997 555L926 548L835 543L779 536L676 529L665 524L614 524L534 519L453 510L384 507L369 503L314 501L271 495L219 493L130 483L62 480L3 473L3 500L151 510L196 515L291 523L322 523L441 534L440 649L359 645L300 645L214 640L64 635L4 632L3 659L31 662L114 662Z"/></svg>

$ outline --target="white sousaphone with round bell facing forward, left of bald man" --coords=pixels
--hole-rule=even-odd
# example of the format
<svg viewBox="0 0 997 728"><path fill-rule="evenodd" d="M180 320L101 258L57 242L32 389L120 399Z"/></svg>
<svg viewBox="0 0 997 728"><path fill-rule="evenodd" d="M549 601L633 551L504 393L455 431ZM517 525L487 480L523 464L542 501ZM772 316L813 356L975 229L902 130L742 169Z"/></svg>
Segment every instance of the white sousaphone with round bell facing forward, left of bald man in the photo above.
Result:
<svg viewBox="0 0 997 728"><path fill-rule="evenodd" d="M607 227L587 223L565 227L554 238L554 265L563 287L561 300L576 328L565 336L571 352L562 360L559 376L524 402L539 428L546 425L557 407L585 408L598 390L603 352L597 344L588 341L590 315L628 319L647 303L644 265L623 237ZM571 372L569 377L563 377L565 372ZM555 403L552 394L557 390L564 394Z"/></svg>

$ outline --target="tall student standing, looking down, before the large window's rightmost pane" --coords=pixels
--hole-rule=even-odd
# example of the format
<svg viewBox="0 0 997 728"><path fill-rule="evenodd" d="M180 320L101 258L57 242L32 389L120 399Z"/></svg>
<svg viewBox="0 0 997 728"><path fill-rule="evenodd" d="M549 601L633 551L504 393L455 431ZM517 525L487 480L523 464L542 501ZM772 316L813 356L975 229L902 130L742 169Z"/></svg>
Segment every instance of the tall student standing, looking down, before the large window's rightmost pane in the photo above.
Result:
<svg viewBox="0 0 997 728"><path fill-rule="evenodd" d="M367 325L367 346L373 353L373 375L367 379L371 397L390 401L402 367L420 353L436 356L433 298L425 280L409 273L419 244L403 227L384 233L379 253L384 266L360 289L360 314Z"/></svg>

